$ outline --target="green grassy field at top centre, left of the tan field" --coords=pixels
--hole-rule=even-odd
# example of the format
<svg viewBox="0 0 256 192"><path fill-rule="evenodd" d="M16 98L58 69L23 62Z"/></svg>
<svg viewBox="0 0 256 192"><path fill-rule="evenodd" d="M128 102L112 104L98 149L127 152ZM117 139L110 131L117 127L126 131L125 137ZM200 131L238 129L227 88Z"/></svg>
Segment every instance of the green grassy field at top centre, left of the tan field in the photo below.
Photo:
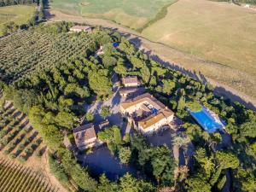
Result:
<svg viewBox="0 0 256 192"><path fill-rule="evenodd" d="M167 3L175 0L54 0L53 9L91 18L113 20L133 29L147 24Z"/></svg>

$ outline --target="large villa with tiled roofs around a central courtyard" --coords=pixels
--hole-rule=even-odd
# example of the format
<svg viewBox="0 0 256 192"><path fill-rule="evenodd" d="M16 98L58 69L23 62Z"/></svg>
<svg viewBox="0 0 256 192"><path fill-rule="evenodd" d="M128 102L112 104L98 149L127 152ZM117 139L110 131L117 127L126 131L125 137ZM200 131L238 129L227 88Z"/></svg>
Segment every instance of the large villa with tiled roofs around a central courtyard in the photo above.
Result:
<svg viewBox="0 0 256 192"><path fill-rule="evenodd" d="M120 110L143 134L159 131L165 125L171 126L174 118L172 110L149 93L122 102Z"/></svg>

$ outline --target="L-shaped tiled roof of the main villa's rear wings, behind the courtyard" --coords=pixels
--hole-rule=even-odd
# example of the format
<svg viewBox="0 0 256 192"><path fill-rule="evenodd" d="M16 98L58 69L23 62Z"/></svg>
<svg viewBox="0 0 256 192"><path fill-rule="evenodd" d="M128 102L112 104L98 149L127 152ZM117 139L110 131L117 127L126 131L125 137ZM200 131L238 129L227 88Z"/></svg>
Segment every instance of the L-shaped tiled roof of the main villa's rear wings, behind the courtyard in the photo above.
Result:
<svg viewBox="0 0 256 192"><path fill-rule="evenodd" d="M159 102L154 96L150 95L149 93L144 93L141 96L137 96L133 99L127 100L126 102L121 103L121 107L124 109L131 108L139 103L148 102L151 104L155 109L160 110L161 108L166 108L166 106Z"/></svg>

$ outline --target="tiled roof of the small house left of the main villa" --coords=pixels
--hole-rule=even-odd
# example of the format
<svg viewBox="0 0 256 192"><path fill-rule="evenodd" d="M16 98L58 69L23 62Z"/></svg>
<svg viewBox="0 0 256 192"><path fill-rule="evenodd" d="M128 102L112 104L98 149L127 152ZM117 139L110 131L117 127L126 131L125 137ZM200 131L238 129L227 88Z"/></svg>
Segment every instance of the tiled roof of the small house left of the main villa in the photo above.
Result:
<svg viewBox="0 0 256 192"><path fill-rule="evenodd" d="M73 135L79 148L86 145L88 140L96 138L96 131L93 124L87 124L73 129Z"/></svg>

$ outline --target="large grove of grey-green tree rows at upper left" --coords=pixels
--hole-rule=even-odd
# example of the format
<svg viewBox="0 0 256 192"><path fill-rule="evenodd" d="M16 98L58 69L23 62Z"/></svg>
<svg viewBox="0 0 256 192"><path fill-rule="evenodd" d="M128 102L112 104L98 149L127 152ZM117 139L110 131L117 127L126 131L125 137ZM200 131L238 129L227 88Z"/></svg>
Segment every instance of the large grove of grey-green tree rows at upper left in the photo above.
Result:
<svg viewBox="0 0 256 192"><path fill-rule="evenodd" d="M67 32L46 32L38 27L0 41L0 80L19 79L36 68L51 67L85 52L90 36Z"/></svg>

